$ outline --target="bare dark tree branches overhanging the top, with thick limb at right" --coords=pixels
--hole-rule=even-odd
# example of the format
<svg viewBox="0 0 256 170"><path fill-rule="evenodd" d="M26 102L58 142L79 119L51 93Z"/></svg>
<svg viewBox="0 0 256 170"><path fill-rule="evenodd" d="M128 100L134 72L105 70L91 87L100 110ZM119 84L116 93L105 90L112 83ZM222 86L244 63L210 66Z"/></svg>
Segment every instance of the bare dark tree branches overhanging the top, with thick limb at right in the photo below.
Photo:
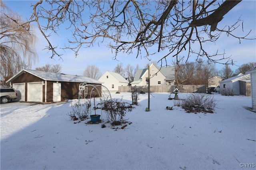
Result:
<svg viewBox="0 0 256 170"><path fill-rule="evenodd" d="M57 46L52 45L48 37L51 33L58 33L63 23L68 23L66 28L73 31L68 40L69 45L64 49L71 49L75 55L78 55L81 47L108 40L108 47L113 49L116 56L118 53L135 52L136 57L147 58L160 51L170 51L159 60L161 66L169 56L176 57L178 63L181 53L185 54L185 59L194 55L206 57L209 63L233 64L224 51L219 53L216 49L216 53L208 53L206 47L215 43L222 33L239 40L248 39L250 31L240 36L233 34L238 28L242 28L241 33L243 31L240 18L223 28L218 25L225 14L240 2L39 0L34 4L30 22L37 22L48 41L46 49L52 51L51 57L61 56L56 51ZM42 20L47 23L44 25ZM150 47L153 47L152 50L148 50Z"/></svg>

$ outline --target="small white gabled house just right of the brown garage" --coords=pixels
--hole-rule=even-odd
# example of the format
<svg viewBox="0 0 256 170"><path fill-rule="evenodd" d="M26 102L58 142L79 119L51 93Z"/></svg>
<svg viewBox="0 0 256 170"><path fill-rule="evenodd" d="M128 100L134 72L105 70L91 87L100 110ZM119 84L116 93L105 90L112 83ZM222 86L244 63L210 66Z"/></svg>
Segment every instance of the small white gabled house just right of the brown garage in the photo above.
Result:
<svg viewBox="0 0 256 170"><path fill-rule="evenodd" d="M118 92L118 86L128 86L129 82L116 72L106 71L100 78L102 85L106 86L110 92Z"/></svg>

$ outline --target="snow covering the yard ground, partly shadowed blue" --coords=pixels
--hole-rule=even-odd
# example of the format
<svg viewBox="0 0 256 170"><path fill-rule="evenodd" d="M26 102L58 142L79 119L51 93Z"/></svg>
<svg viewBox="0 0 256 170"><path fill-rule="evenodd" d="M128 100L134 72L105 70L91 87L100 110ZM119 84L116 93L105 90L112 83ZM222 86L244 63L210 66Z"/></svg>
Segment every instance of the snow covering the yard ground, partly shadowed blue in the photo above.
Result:
<svg viewBox="0 0 256 170"><path fill-rule="evenodd" d="M111 95L131 103L130 93ZM255 169L256 113L246 109L251 97L213 95L215 113L194 114L180 107L166 110L174 101L168 93L153 93L146 112L148 95L140 94L124 129L88 120L74 124L67 115L71 102L1 104L0 168Z"/></svg>

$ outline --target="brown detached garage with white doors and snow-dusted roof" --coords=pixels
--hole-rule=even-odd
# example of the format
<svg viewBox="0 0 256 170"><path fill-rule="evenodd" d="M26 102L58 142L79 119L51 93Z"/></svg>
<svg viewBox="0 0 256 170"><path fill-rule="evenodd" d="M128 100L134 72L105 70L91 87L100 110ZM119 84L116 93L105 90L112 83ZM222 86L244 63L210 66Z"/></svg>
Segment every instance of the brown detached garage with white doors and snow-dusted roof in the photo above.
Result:
<svg viewBox="0 0 256 170"><path fill-rule="evenodd" d="M24 102L59 102L77 99L80 83L94 86L102 84L98 80L84 76L28 69L21 70L6 82L17 90L18 99Z"/></svg>

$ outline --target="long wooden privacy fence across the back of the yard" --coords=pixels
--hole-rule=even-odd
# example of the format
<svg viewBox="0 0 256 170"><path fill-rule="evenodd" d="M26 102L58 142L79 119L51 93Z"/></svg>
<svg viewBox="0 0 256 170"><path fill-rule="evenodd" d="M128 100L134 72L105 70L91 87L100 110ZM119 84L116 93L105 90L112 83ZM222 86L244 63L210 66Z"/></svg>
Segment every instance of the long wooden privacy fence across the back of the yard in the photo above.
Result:
<svg viewBox="0 0 256 170"><path fill-rule="evenodd" d="M148 92L148 87L146 86L119 86L119 92L131 92L132 88L136 88L139 92ZM172 92L175 90L176 85L166 85L166 86L150 86L150 92L153 93L164 93ZM180 85L178 89L182 93L206 93L206 85Z"/></svg>

